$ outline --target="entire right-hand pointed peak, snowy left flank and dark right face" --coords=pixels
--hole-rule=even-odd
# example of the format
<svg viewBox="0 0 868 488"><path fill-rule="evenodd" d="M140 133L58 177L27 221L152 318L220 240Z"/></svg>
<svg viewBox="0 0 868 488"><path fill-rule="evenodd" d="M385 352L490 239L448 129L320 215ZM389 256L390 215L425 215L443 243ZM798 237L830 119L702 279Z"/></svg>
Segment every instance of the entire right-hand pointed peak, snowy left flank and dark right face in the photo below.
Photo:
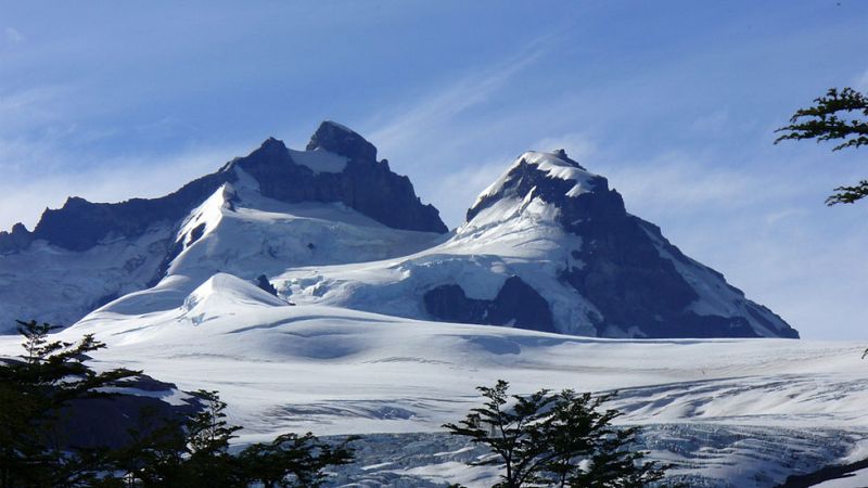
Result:
<svg viewBox="0 0 868 488"><path fill-rule="evenodd" d="M417 319L604 337L799 336L562 151L519 157L438 246L278 281L298 303Z"/></svg>

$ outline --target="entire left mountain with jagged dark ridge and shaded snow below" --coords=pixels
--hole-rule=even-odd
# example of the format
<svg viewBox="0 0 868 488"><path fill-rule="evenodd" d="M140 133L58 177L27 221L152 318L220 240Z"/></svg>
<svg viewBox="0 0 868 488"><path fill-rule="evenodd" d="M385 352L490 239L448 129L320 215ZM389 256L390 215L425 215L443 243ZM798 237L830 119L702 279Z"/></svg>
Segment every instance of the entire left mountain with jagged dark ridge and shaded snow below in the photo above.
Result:
<svg viewBox="0 0 868 488"><path fill-rule="evenodd" d="M68 325L170 274L188 273L174 280L190 281L177 291L186 295L220 270L253 279L291 266L380 259L446 232L437 210L357 133L326 121L307 147L268 139L164 197L72 197L46 210L33 232L21 224L0 232L0 332L12 332L14 319ZM206 247L194 245L200 239L209 251L189 251ZM176 262L193 254L195 265Z"/></svg>

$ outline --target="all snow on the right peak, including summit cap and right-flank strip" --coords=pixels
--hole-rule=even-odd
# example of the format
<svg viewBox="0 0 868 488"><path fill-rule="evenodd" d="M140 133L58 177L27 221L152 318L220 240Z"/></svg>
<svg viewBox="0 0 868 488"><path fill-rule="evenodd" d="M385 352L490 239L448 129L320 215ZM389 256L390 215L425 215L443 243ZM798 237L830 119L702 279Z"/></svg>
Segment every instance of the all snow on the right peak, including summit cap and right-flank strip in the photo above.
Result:
<svg viewBox="0 0 868 488"><path fill-rule="evenodd" d="M593 177L553 154L525 153L519 160L524 159L549 168L557 177L576 179L578 187ZM560 166L552 162L559 162ZM502 181L483 192L477 202L487 193L497 193L500 184ZM573 255L582 248L582 237L563 230L558 213L557 206L546 204L534 191L524 197L501 195L439 245L380 261L293 267L272 282L282 297L297 304L425 320L431 317L424 309L423 296L436 286L458 284L470 298L493 299L508 278L518 275L549 303L557 331L596 336L598 332L589 318L601 313L560 279L564 269L582 268L584 262ZM650 232L649 236L661 255L673 261L695 288L700 298L691 306L693 311L744 317L760 335L778 335L748 311L744 296L718 273L699 262L676 259L656 236ZM767 311L763 313L776 323L777 318ZM635 337L641 333L635 328L609 328L605 335Z"/></svg>

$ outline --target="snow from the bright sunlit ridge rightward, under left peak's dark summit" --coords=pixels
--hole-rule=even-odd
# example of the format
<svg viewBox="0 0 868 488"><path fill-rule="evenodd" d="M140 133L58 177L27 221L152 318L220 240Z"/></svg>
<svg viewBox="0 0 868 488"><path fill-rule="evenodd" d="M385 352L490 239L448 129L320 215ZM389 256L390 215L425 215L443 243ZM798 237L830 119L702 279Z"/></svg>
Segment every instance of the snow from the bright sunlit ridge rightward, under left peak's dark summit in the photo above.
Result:
<svg viewBox="0 0 868 488"><path fill-rule="evenodd" d="M284 204L261 196L241 169L194 209L175 241L182 251L154 287L130 293L102 311L146 313L179 307L215 273L245 280L288 267L370 261L424 248L439 234L396 230L340 203ZM199 230L199 236L195 233ZM272 297L273 298L273 297Z"/></svg>

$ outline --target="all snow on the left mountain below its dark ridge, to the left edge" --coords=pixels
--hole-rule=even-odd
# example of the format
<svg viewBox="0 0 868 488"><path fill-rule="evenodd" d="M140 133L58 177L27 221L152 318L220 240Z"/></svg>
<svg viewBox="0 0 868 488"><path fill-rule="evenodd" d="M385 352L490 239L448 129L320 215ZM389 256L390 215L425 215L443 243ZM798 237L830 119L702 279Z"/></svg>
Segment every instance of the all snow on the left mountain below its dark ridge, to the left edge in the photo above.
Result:
<svg viewBox="0 0 868 488"><path fill-rule="evenodd" d="M241 168L232 171L235 183L218 188L177 229L166 223L138 239L106 240L85 252L37 241L0 257L0 308L28 320L33 297L60 284L40 321L65 325L100 306L144 313L179 306L219 271L254 280L293 266L401 256L442 240L436 233L388 228L341 203L278 202L263 196ZM164 278L154 284L154 275ZM0 330L14 331L13 325L5 322Z"/></svg>

